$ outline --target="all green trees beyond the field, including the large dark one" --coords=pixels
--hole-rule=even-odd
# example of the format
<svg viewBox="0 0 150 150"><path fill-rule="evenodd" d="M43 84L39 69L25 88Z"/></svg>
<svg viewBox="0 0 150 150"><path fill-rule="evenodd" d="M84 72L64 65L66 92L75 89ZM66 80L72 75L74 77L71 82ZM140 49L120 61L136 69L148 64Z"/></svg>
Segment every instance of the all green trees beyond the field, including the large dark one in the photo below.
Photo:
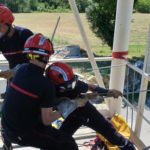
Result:
<svg viewBox="0 0 150 150"><path fill-rule="evenodd" d="M68 0L0 0L13 12L71 11ZM76 0L80 12L86 13L91 30L112 48L117 0ZM150 13L150 0L135 0L134 11Z"/></svg>

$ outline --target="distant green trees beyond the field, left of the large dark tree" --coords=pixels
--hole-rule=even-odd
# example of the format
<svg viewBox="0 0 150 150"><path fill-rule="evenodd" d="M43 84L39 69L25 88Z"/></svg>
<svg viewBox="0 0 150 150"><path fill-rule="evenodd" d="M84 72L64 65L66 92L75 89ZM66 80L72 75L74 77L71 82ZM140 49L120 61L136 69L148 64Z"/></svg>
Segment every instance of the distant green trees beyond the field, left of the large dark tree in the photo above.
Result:
<svg viewBox="0 0 150 150"><path fill-rule="evenodd" d="M77 0L80 12L85 12L91 0ZM15 13L41 12L65 12L70 11L68 0L0 0Z"/></svg>

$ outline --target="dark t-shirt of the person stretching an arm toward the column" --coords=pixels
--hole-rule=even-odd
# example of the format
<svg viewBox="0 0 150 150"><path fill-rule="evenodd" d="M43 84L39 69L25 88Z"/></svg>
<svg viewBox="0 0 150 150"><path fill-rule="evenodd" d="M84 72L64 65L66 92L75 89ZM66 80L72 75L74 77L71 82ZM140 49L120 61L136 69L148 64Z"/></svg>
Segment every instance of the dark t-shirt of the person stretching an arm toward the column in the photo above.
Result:
<svg viewBox="0 0 150 150"><path fill-rule="evenodd" d="M59 92L59 90L56 90L56 96L57 97L68 97L70 99L74 99L77 96L79 96L82 93L86 93L88 91L88 84L78 80L77 85L74 90L67 91L67 92Z"/></svg>

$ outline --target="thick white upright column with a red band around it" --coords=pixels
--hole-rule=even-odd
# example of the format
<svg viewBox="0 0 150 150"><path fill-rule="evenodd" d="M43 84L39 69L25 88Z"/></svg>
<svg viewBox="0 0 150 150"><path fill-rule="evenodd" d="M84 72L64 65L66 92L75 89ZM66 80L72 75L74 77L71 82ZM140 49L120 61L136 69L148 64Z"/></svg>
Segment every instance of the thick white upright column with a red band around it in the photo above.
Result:
<svg viewBox="0 0 150 150"><path fill-rule="evenodd" d="M125 78L125 64L129 45L129 33L131 25L131 17L133 11L134 0L118 0L116 24L113 43L113 60L112 66L121 65L120 67L112 68L110 74L110 89L117 89L123 92ZM109 101L111 113L120 113L121 99Z"/></svg>

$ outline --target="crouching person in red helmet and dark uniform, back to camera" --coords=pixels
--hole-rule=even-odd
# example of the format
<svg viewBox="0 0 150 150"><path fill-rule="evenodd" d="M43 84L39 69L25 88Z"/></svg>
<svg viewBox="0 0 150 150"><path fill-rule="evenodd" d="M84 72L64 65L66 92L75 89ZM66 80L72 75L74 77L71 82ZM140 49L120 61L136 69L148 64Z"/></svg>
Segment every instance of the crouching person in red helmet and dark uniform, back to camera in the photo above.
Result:
<svg viewBox="0 0 150 150"><path fill-rule="evenodd" d="M53 53L52 43L42 34L35 34L26 41L24 52L30 62L16 72L2 108L4 135L10 142L23 146L78 150L71 136L50 126L60 117L59 112L53 111L54 85L43 75Z"/></svg>

